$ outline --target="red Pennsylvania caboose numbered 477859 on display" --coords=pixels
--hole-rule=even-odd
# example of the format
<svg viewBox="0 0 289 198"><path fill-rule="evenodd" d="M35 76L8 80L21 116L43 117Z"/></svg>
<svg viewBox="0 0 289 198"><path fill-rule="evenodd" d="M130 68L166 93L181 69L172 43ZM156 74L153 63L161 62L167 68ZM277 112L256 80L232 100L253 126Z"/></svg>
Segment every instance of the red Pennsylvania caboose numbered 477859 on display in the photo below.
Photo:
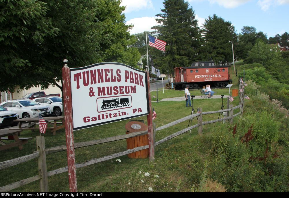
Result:
<svg viewBox="0 0 289 198"><path fill-rule="evenodd" d="M197 89L207 84L226 87L232 83L231 65L216 66L213 61L193 62L191 67L176 67L174 74L175 89L184 89L186 85L190 89Z"/></svg>

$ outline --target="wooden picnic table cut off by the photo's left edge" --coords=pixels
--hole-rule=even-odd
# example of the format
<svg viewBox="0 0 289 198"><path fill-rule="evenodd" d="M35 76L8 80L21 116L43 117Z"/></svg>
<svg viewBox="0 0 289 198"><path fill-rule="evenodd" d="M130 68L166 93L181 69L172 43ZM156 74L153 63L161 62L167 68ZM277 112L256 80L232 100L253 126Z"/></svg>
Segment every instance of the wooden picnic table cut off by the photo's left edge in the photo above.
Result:
<svg viewBox="0 0 289 198"><path fill-rule="evenodd" d="M0 130L0 151L18 146L20 150L23 149L23 144L26 144L29 139L32 139L32 137L18 137L18 132L21 130L10 130L10 129L1 129ZM7 137L6 137L7 136ZM2 140L14 140L15 142L6 144Z"/></svg>

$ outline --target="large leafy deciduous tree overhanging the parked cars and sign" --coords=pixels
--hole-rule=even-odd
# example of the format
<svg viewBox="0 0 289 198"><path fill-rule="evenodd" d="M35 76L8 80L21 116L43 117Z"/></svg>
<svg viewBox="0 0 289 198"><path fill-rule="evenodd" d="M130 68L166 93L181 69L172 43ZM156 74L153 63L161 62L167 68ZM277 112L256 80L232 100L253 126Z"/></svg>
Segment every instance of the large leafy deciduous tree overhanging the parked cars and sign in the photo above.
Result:
<svg viewBox="0 0 289 198"><path fill-rule="evenodd" d="M1 71L4 71L2 90L8 87L12 90L16 85L30 88L51 84L62 89L56 82L62 79L63 59L69 60L69 67L101 61L119 61L136 66L139 53L137 49L128 47L134 42L128 32L132 26L125 24L122 14L125 8L119 6L119 0L84 0L81 3L77 0L50 0L46 3L18 0L13 1L14 7L10 5L12 1L3 2L1 13L5 13L9 21L2 18L1 29L12 29L11 40L19 38L23 28L27 29L24 34L27 38L20 37L16 44L11 45L5 34L0 34L0 38L4 38L0 40L1 50L6 55L0 61ZM27 14L27 10L35 13ZM19 14L15 15L15 12ZM9 80L15 76L15 81Z"/></svg>

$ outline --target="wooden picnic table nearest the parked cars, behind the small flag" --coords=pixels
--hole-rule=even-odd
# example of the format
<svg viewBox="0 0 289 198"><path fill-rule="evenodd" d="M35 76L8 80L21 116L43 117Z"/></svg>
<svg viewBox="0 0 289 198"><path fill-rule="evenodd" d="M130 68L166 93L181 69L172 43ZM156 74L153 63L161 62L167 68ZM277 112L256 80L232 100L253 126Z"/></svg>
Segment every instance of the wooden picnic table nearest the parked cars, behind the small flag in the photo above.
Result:
<svg viewBox="0 0 289 198"><path fill-rule="evenodd" d="M47 124L53 125L53 127L47 127L47 129L50 129L51 132L53 132L53 135L56 134L55 132L57 130L65 128L64 116L43 117L43 119L47 122ZM62 123L60 126L57 126L56 124L60 124L60 122L57 122L59 120L61 120ZM14 122L19 122L18 128L10 128L10 130L32 130L32 131L38 130L39 131L39 127L36 127L36 124L38 124L39 122L38 117L27 117L27 118L16 119L14 120ZM26 124L26 122L28 122L28 125ZM23 123L26 125L23 126ZM20 135L20 132L18 132L18 135Z"/></svg>

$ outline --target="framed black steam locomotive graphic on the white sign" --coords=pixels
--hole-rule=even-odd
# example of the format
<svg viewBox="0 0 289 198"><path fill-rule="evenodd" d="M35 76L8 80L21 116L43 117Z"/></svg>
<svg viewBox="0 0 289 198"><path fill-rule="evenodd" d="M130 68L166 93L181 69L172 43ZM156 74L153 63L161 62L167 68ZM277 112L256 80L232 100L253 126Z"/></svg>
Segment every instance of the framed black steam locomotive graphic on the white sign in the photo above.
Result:
<svg viewBox="0 0 289 198"><path fill-rule="evenodd" d="M130 95L97 98L96 101L98 112L124 109L132 106L132 99Z"/></svg>

